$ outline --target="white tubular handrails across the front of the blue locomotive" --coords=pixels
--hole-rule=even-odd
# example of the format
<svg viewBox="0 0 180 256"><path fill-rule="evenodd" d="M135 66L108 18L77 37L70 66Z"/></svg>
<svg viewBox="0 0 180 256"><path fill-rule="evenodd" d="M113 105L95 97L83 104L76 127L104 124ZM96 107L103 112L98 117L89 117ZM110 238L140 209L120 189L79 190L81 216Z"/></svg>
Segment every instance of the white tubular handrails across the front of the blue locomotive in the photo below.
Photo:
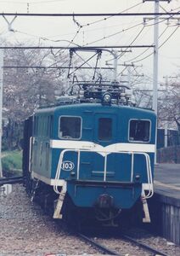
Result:
<svg viewBox="0 0 180 256"><path fill-rule="evenodd" d="M59 162L58 162L58 166L57 166L57 170L56 170L56 175L55 175L55 184L53 186L53 190L57 193L60 194L59 192L59 185L58 185L58 181L59 181L59 177L60 177L60 173L61 173L61 166L63 163L63 159L64 159L64 155L66 152L77 152L77 174L76 174L76 178L77 180L79 180L80 178L80 157L81 157L81 152L91 152L91 150L89 149L63 149L61 151L61 153L59 154ZM133 181L133 169L134 169L134 154L142 154L145 157L146 160L146 170L147 170L147 178L148 178L148 184L149 184L149 189L148 189L148 194L147 195L143 195L144 199L147 199L149 197L151 197L154 194L154 189L153 189L153 178L152 178L152 172L151 172L151 166L150 166L150 158L149 158L149 154L144 153L144 152L133 152L133 151L103 151L103 150L97 150L97 153L104 153L104 182L106 181L106 177L107 177L107 156L108 154L113 154L113 153L119 153L119 154L131 154L132 155L132 166L131 166L131 182Z"/></svg>

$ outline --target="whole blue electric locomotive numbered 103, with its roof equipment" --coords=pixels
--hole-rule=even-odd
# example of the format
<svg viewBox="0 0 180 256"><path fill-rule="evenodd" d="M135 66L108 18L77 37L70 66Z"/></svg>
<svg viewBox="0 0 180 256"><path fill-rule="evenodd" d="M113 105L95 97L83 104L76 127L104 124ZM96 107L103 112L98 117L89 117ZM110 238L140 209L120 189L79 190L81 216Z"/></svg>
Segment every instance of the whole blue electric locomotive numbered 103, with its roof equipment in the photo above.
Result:
<svg viewBox="0 0 180 256"><path fill-rule="evenodd" d="M53 218L149 221L155 129L155 113L133 107L128 88L76 84L25 121L26 189Z"/></svg>

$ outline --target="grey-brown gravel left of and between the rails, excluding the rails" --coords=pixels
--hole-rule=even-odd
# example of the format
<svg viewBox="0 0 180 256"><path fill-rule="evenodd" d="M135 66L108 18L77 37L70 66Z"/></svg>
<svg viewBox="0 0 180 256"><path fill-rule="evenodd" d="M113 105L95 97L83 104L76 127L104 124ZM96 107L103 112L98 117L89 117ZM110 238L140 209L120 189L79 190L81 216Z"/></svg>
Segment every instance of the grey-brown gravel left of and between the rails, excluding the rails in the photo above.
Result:
<svg viewBox="0 0 180 256"><path fill-rule="evenodd" d="M160 236L138 229L127 231L138 241L167 255L180 255L180 247ZM152 255L120 237L94 236L93 239L122 255ZM13 185L11 194L0 197L0 256L46 256L50 253L65 256L100 255L101 252L76 236L62 221L54 221L46 215L40 206L31 202L22 185Z"/></svg>

